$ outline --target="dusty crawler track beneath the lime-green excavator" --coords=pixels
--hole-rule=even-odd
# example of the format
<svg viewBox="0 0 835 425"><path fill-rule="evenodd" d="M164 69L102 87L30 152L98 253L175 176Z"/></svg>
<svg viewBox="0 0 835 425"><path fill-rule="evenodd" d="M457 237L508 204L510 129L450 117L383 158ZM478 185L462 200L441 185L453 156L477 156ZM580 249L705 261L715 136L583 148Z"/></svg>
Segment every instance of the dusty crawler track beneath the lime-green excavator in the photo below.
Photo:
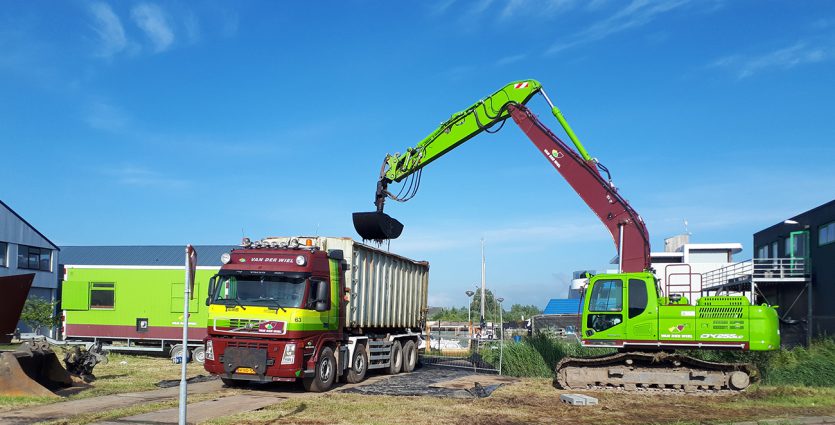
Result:
<svg viewBox="0 0 835 425"><path fill-rule="evenodd" d="M665 352L567 357L556 367L554 386L566 390L738 392L758 380L748 363L717 363Z"/></svg>

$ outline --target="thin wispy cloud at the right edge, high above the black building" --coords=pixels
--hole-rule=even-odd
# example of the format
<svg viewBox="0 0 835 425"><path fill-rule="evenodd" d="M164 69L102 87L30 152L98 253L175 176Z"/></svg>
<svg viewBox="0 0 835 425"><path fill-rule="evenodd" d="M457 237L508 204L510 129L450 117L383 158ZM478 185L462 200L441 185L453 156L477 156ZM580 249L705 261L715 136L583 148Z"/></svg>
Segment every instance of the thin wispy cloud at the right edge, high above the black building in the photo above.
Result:
<svg viewBox="0 0 835 425"><path fill-rule="evenodd" d="M831 60L833 57L835 55L830 46L812 46L808 42L799 42L762 55L726 56L714 61L710 67L731 69L737 78L743 79L770 69L786 70L800 65Z"/></svg>

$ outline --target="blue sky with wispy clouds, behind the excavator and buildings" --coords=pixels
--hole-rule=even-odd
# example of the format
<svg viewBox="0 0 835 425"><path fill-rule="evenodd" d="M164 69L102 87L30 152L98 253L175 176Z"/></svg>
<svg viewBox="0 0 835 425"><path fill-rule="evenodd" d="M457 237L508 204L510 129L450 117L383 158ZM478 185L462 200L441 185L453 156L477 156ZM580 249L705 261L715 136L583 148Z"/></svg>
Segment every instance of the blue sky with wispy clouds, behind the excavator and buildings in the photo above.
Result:
<svg viewBox="0 0 835 425"><path fill-rule="evenodd" d="M835 194L828 1L6 2L0 198L59 245L356 236L386 153L510 81L563 110L653 246L741 242ZM529 106L559 125L537 97ZM615 254L512 124L387 212L430 304L544 306Z"/></svg>

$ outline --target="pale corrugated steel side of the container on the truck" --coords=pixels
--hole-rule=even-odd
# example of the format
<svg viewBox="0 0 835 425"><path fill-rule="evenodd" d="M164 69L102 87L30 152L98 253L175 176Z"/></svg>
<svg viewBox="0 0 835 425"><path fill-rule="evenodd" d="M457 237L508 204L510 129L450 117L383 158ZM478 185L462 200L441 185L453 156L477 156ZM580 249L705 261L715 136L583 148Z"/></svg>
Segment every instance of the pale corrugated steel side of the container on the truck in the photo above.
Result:
<svg viewBox="0 0 835 425"><path fill-rule="evenodd" d="M345 276L351 288L346 323L364 328L420 327L427 307L429 264L352 245L345 250L351 265Z"/></svg>

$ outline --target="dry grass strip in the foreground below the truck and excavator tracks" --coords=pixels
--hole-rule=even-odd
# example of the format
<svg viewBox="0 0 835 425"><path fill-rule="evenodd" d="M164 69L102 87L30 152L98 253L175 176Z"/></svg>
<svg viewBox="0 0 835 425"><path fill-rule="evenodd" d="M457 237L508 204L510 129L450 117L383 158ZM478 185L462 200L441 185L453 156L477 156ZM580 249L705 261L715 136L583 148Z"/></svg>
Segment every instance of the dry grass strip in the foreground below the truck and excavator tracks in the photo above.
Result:
<svg viewBox="0 0 835 425"><path fill-rule="evenodd" d="M559 401L548 378L523 378L482 399L326 393L217 418L210 424L727 424L835 413L835 390L755 388L744 395L583 392L600 400L577 408ZM576 391L574 391L576 392ZM782 400L782 401L781 401ZM819 404L822 403L822 404ZM393 408L392 406L396 406ZM709 407L706 407L709 406Z"/></svg>

